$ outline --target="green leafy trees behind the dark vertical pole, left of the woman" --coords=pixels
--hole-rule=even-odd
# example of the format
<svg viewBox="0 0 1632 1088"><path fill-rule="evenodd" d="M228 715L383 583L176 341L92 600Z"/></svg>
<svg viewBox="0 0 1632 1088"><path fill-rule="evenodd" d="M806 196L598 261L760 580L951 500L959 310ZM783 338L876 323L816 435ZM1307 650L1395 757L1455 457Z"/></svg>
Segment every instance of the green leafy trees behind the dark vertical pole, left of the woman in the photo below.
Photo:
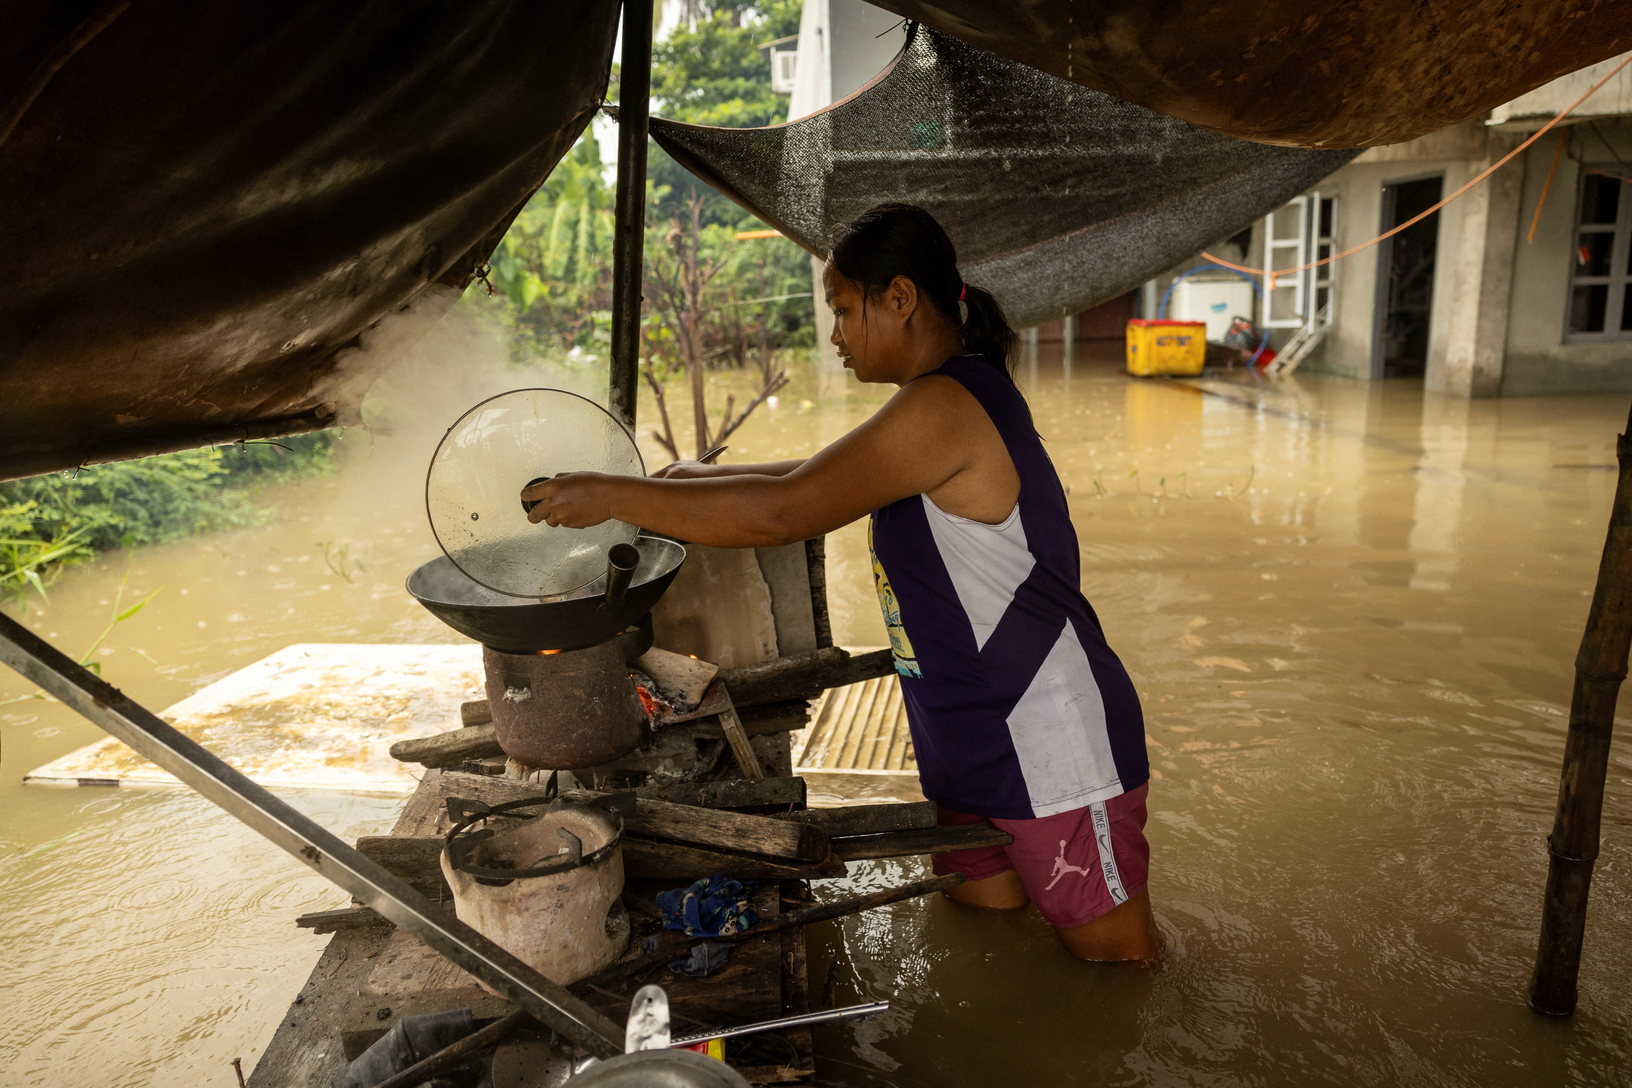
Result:
<svg viewBox="0 0 1632 1088"><path fill-rule="evenodd" d="M708 126L787 116L759 46L796 33L800 0L682 0L681 26L653 49L653 113ZM609 91L617 101L619 90ZM592 134L561 160L494 251L491 282L517 352L596 351L610 341L615 183ZM811 343L809 261L785 238L738 240L759 222L687 173L656 144L646 171L645 377L658 396L658 440L679 455L666 383L692 388L697 453L734 431L787 380L777 352ZM788 297L795 295L795 297ZM718 422L705 372L756 367L761 391Z"/></svg>

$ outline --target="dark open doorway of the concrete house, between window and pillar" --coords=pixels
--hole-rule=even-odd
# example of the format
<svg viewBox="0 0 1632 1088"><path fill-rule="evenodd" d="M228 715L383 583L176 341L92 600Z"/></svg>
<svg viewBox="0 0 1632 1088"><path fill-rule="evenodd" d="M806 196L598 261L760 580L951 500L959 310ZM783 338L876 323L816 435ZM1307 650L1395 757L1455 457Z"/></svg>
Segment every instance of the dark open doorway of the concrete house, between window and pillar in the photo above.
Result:
<svg viewBox="0 0 1632 1088"><path fill-rule="evenodd" d="M1439 202L1443 178L1382 188L1382 230L1394 230ZM1420 378L1428 370L1433 272L1439 248L1439 212L1382 243L1377 259L1377 329L1373 378Z"/></svg>

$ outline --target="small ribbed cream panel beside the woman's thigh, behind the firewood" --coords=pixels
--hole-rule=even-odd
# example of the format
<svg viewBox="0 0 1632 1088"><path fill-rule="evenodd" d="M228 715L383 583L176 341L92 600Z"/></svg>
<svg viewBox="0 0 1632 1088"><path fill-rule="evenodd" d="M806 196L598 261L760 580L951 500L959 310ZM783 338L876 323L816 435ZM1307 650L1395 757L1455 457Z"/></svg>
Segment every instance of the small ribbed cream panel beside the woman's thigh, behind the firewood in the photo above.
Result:
<svg viewBox="0 0 1632 1088"><path fill-rule="evenodd" d="M826 692L803 732L800 772L917 773L894 675Z"/></svg>

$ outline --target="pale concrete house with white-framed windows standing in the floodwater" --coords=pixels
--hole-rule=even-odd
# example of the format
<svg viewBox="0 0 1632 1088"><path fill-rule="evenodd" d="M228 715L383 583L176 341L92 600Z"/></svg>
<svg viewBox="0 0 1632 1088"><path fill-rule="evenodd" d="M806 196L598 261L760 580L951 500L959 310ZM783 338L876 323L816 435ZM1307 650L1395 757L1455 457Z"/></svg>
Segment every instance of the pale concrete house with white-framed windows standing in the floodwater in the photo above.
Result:
<svg viewBox="0 0 1632 1088"><path fill-rule="evenodd" d="M1245 259L1234 259L1296 268L1377 237L1500 160L1616 64L1555 80L1488 117L1366 150L1258 223ZM1304 370L1421 377L1452 396L1632 390L1629 179L1632 67L1443 210L1330 271L1279 281L1268 299L1268 325L1281 326L1271 343L1284 346L1301 325L1325 326Z"/></svg>

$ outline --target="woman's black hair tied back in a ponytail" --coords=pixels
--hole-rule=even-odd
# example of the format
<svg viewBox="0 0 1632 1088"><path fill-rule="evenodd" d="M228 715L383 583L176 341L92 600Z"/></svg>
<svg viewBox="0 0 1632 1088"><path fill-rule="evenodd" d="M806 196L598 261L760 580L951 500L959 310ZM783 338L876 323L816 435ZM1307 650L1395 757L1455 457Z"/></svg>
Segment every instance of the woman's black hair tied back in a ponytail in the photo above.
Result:
<svg viewBox="0 0 1632 1088"><path fill-rule="evenodd" d="M829 258L840 276L862 287L863 299L881 294L896 276L911 279L919 297L951 320L969 354L1013 383L1009 359L1015 331L989 290L965 284L958 251L934 215L916 204L875 204L832 232ZM958 295L968 316L958 316Z"/></svg>

